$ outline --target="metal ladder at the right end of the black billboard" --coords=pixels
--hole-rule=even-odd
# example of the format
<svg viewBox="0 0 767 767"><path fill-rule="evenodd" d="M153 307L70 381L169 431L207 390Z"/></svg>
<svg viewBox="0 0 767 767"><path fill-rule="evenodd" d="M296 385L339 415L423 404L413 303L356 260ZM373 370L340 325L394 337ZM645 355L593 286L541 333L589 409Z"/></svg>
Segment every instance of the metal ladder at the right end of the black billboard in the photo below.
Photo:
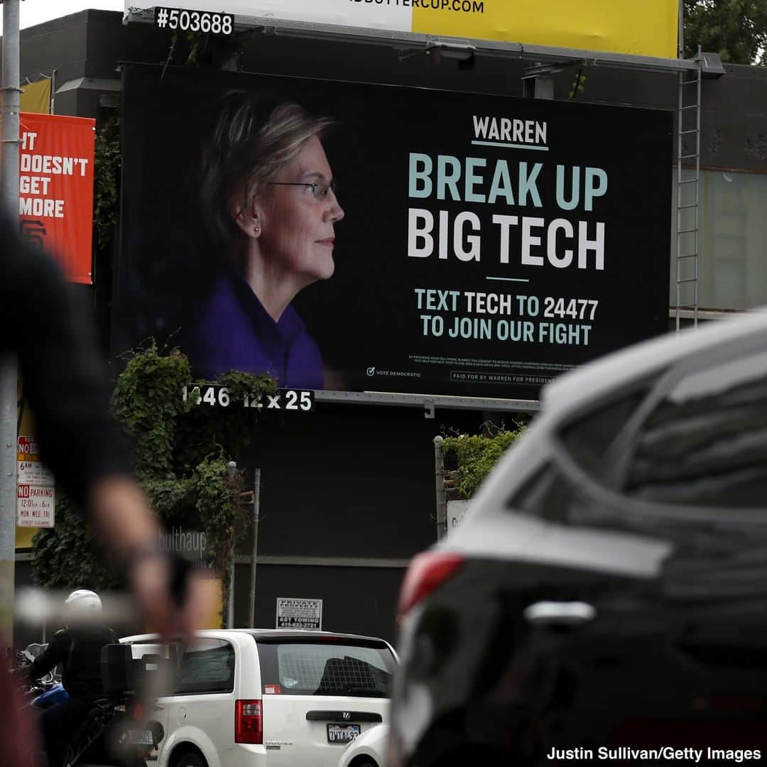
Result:
<svg viewBox="0 0 767 767"><path fill-rule="evenodd" d="M676 330L684 309L698 324L698 257L700 227L700 107L702 62L679 74L676 119ZM690 146L692 145L692 146Z"/></svg>

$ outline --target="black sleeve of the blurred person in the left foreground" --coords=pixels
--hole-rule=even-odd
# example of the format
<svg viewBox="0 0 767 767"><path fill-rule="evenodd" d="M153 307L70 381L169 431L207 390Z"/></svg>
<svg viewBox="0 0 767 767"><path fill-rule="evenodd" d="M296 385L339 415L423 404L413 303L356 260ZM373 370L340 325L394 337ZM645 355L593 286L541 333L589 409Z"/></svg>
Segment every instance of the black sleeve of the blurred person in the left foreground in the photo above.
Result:
<svg viewBox="0 0 767 767"><path fill-rule="evenodd" d="M0 217L0 354L18 354L42 459L83 502L98 479L130 475L130 453L110 420L106 364L77 288L17 232Z"/></svg>

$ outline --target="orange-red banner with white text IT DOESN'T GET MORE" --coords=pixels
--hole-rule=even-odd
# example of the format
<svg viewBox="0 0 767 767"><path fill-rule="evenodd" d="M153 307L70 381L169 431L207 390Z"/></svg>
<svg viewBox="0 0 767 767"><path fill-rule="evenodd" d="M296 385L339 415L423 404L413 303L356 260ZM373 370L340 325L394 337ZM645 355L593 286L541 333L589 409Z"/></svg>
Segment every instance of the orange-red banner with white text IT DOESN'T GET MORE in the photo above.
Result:
<svg viewBox="0 0 767 767"><path fill-rule="evenodd" d="M96 120L21 113L21 235L54 255L71 282L91 285Z"/></svg>

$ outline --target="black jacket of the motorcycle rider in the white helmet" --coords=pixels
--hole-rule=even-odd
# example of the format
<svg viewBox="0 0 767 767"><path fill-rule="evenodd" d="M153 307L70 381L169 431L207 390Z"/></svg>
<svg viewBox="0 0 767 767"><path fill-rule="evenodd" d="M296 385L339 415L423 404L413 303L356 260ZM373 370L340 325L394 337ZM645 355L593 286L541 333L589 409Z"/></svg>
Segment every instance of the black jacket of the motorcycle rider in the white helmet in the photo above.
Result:
<svg viewBox="0 0 767 767"><path fill-rule="evenodd" d="M29 667L29 678L39 679L61 663L61 683L71 697L100 698L104 696L101 648L114 642L117 636L107 627L61 629Z"/></svg>

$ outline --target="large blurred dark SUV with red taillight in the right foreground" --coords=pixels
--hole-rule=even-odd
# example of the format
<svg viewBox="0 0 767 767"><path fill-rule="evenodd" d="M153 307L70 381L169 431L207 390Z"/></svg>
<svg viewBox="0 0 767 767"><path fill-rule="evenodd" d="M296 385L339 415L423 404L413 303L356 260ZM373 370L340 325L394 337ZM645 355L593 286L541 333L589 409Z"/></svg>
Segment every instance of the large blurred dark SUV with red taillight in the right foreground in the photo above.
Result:
<svg viewBox="0 0 767 767"><path fill-rule="evenodd" d="M546 387L410 565L390 767L767 755L767 315Z"/></svg>

